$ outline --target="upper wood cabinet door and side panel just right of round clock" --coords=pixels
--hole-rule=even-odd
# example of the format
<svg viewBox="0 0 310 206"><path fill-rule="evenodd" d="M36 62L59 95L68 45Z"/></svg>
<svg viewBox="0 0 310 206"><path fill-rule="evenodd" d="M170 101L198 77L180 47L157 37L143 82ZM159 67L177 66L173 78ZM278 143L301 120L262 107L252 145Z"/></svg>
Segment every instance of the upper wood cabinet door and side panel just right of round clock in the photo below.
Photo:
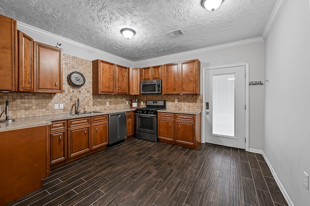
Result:
<svg viewBox="0 0 310 206"><path fill-rule="evenodd" d="M114 94L115 64L93 60L93 94Z"/></svg>

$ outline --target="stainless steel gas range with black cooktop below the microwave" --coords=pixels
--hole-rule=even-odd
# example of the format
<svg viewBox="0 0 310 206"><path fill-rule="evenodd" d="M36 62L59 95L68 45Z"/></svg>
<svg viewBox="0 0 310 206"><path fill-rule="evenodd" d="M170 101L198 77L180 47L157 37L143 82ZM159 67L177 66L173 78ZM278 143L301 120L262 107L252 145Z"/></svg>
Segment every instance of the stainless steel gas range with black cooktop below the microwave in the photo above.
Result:
<svg viewBox="0 0 310 206"><path fill-rule="evenodd" d="M166 101L147 100L146 107L137 108L136 137L157 142L157 110L166 109Z"/></svg>

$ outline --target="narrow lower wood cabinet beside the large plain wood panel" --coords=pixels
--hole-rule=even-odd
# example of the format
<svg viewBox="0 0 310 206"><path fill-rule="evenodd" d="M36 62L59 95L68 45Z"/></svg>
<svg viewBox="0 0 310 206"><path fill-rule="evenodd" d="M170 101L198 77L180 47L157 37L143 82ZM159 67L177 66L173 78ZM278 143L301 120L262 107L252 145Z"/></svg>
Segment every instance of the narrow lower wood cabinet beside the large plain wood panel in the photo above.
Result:
<svg viewBox="0 0 310 206"><path fill-rule="evenodd" d="M67 120L52 122L49 131L50 164L66 160L68 158Z"/></svg>

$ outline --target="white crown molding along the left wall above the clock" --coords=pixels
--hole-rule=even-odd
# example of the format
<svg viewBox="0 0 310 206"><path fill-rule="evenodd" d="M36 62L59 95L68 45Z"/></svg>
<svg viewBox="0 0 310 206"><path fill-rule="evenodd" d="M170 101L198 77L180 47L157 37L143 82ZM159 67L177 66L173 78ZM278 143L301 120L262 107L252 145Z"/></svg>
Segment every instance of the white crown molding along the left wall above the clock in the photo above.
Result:
<svg viewBox="0 0 310 206"><path fill-rule="evenodd" d="M22 29L22 30L26 30L26 31L29 31L29 32L33 32L35 34L38 34L38 35L41 35L41 36L53 39L53 40L55 40L55 42L62 42L62 43L65 43L65 44L70 44L72 46L76 46L78 48L85 49L85 50L93 52L93 53L97 53L97 54L100 54L100 55L108 56L108 57L111 57L111 58L114 58L114 59L119 59L121 61L127 62L128 64L133 64L134 63L133 61L130 61L128 59L124 59L124 58L112 55L112 54L110 54L108 52L104 52L104 51L101 51L99 49L93 48L91 46L78 43L78 42L73 41L71 39L67 39L65 37L62 37L62 36L50 33L50 32L45 31L43 29L39 29L39 28L30 26L28 24L25 24L25 23L22 23L22 22L19 22L19 21L17 21L17 29Z"/></svg>

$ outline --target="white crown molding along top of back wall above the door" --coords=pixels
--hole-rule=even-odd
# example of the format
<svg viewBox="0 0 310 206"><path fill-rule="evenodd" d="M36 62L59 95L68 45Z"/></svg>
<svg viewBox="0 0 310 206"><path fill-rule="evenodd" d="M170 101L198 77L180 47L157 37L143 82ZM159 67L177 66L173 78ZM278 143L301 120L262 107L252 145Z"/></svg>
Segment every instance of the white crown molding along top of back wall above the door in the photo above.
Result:
<svg viewBox="0 0 310 206"><path fill-rule="evenodd" d="M134 64L152 62L155 60L170 59L170 58L175 58L175 57L182 57L182 56L186 56L186 55L190 55L190 54L200 54L203 52L210 52L210 51L214 51L214 50L218 50L218 49L225 49L225 48L230 48L233 46L241 46L241 45L254 44L254 43L259 43L259 42L263 42L262 37L246 39L246 40L241 40L241 41L227 43L227 44L219 44L216 46L209 46L209 47L205 47L205 48L201 48L201 49L195 49L195 50L191 50L191 51L180 52L177 54L171 54L171 55L156 57L156 58L152 58L152 59L135 61Z"/></svg>

